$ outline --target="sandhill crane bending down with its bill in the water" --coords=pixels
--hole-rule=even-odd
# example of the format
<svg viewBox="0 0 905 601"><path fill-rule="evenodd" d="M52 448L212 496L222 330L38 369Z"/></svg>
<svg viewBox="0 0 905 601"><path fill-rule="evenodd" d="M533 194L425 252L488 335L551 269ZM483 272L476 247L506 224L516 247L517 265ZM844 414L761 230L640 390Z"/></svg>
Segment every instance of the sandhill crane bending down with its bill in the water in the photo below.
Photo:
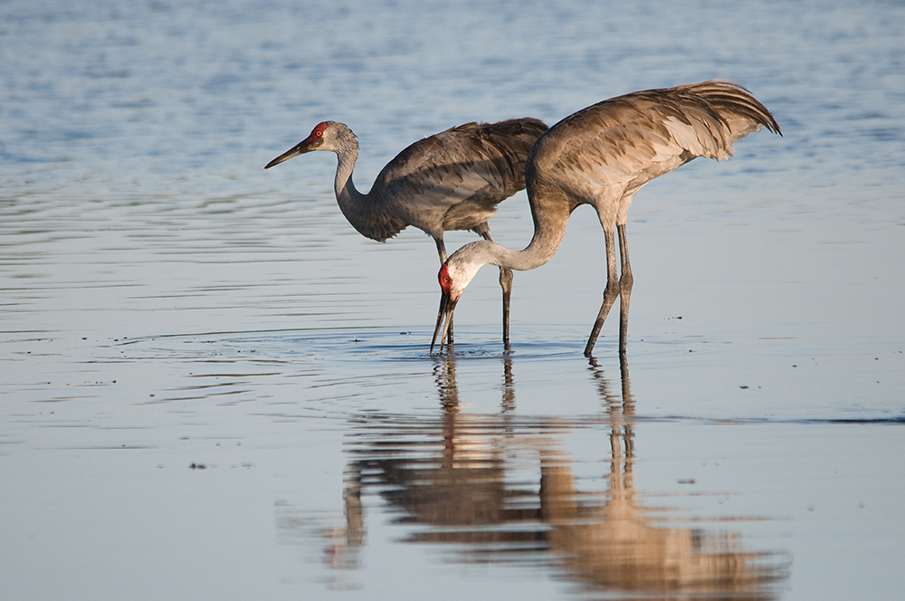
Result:
<svg viewBox="0 0 905 601"><path fill-rule="evenodd" d="M661 90L637 91L604 100L559 121L538 139L525 165L534 237L522 251L489 241L468 243L440 268L443 291L431 352L444 317L452 312L474 274L486 264L519 271L535 269L557 252L569 215L593 205L604 228L604 302L587 340L591 356L606 314L621 297L619 352L624 355L632 268L625 220L632 197L654 177L695 157L732 155L732 143L761 126L781 134L773 115L744 88L704 81ZM622 275L616 274L614 230L619 233ZM445 329L443 329L445 335ZM440 340L443 352L443 337Z"/></svg>

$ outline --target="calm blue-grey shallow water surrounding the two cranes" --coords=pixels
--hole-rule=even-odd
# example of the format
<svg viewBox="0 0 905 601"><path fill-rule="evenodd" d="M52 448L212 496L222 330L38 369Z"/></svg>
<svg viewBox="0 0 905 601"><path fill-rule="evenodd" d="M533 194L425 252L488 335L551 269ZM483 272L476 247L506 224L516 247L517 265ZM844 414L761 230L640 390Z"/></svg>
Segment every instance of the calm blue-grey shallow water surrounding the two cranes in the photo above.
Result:
<svg viewBox="0 0 905 601"><path fill-rule="evenodd" d="M905 6L554 4L0 5L4 596L899 598ZM784 137L636 197L622 366L590 209L439 358L433 243L262 170L712 77Z"/></svg>

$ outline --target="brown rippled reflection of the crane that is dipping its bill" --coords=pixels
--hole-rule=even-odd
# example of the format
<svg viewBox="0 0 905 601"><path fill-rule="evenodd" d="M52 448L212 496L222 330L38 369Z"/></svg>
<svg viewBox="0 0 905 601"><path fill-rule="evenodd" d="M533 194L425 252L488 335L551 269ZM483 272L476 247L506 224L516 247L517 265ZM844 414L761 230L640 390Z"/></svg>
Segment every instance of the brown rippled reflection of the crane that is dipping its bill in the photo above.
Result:
<svg viewBox="0 0 905 601"><path fill-rule="evenodd" d="M772 554L745 551L739 533L653 525L650 514L659 508L644 507L633 482L634 404L627 364L623 358L621 399L610 393L594 358L590 368L609 418L609 488L603 504L583 503L570 463L541 465L543 520L553 526L549 549L562 568L581 582L625 591L771 598L768 585L785 577L786 566Z"/></svg>

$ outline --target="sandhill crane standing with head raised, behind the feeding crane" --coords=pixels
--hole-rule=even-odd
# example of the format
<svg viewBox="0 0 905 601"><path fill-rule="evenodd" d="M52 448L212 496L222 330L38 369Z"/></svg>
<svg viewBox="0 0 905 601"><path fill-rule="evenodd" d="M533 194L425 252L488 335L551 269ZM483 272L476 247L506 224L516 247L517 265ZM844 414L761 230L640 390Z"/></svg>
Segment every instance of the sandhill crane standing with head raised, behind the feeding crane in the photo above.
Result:
<svg viewBox="0 0 905 601"><path fill-rule="evenodd" d="M338 157L337 202L359 234L385 242L408 225L424 230L446 262L443 232L472 230L491 242L487 220L496 205L525 187L525 159L548 127L538 119L498 123L466 123L418 140L386 164L367 194L352 183L358 141L344 123L319 123L300 141L264 168L312 150ZM503 343L509 344L512 272L500 267L503 292ZM452 326L449 339L452 342Z"/></svg>

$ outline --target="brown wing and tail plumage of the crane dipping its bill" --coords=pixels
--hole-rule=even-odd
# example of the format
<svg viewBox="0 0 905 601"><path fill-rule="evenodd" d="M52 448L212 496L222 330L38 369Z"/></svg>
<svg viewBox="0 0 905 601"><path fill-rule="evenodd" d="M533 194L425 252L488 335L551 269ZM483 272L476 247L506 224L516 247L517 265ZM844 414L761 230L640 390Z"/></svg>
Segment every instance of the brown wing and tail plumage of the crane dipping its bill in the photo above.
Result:
<svg viewBox="0 0 905 601"><path fill-rule="evenodd" d="M704 81L579 110L539 140L535 159L543 163L538 170L569 177L571 192L586 190L576 200L593 203L601 194L631 194L692 158L728 158L733 142L761 126L780 133L776 119L744 88Z"/></svg>

